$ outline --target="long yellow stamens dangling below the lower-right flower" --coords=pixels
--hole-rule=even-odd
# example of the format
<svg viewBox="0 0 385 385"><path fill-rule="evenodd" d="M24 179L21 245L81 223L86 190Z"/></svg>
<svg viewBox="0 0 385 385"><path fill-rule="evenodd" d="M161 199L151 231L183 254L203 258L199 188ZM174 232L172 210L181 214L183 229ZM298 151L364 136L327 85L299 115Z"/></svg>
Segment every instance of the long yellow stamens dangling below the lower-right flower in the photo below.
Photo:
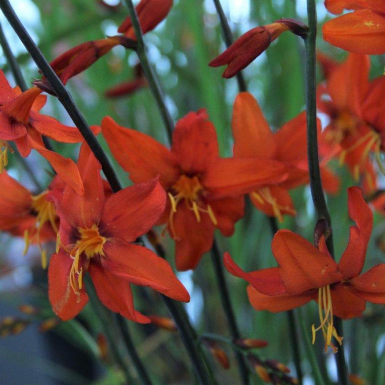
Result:
<svg viewBox="0 0 385 385"><path fill-rule="evenodd" d="M338 348L331 343L331 338L334 337L337 342L342 345L342 338L337 334L335 327L333 326L333 307L331 305L330 285L324 286L318 289L318 312L320 313L320 326L315 328L314 324L311 326L311 332L313 335L313 345L315 343L315 333L318 330L322 330L323 338L325 340L325 352L328 350L328 346L336 353Z"/></svg>

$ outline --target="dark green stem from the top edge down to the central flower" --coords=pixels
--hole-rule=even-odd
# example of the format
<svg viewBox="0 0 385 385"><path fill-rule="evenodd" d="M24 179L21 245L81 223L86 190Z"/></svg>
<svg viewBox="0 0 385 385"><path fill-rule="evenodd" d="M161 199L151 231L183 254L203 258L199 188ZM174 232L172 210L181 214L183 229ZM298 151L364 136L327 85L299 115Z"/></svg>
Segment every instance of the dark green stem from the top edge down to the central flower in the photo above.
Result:
<svg viewBox="0 0 385 385"><path fill-rule="evenodd" d="M131 17L132 26L134 27L134 31L135 31L135 36L137 40L137 48L136 48L137 55L141 62L144 74L146 75L146 79L149 83L149 87L151 88L152 94L154 95L154 98L158 105L159 112L162 115L163 122L166 126L167 134L169 137L171 137L172 131L174 130L174 122L172 121L171 116L169 114L169 110L167 109L166 104L164 102L164 95L163 95L161 86L147 59L146 46L144 45L144 41L143 41L142 28L139 23L139 19L136 14L134 4L132 3L132 0L124 0L124 2L127 5L128 12Z"/></svg>

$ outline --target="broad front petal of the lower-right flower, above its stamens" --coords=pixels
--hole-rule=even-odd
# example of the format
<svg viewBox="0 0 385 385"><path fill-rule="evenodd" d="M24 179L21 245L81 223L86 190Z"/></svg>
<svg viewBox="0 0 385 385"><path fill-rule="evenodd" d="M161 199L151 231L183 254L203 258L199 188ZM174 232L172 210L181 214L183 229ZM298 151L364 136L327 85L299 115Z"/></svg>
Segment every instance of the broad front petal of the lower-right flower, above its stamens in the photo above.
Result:
<svg viewBox="0 0 385 385"><path fill-rule="evenodd" d="M275 234L271 249L280 265L283 284L290 294L304 293L342 279L330 256L289 230L279 230Z"/></svg>

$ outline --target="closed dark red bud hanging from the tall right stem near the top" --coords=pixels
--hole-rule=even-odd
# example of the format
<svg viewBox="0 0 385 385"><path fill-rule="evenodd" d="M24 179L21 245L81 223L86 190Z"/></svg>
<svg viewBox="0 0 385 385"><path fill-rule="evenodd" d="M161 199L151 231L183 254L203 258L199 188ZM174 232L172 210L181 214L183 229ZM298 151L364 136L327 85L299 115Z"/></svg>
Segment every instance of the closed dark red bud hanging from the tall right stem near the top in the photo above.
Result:
<svg viewBox="0 0 385 385"><path fill-rule="evenodd" d="M281 33L288 30L301 36L306 33L307 27L293 19L280 19L268 25L255 27L244 33L222 54L211 60L209 66L220 67L227 64L222 76L227 79L231 78L268 49Z"/></svg>

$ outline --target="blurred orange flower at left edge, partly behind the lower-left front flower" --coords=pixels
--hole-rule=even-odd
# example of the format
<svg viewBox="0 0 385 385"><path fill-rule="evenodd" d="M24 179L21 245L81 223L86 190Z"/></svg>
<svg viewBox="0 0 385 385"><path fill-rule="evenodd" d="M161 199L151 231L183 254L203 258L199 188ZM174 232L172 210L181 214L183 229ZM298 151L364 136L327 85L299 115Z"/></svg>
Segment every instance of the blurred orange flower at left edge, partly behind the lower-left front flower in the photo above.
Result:
<svg viewBox="0 0 385 385"><path fill-rule="evenodd" d="M25 252L30 243L36 243L42 254L42 266L47 266L42 243L56 239L59 218L54 204L46 199L52 189L59 189L62 181L56 176L47 190L37 195L10 177L0 174L0 230L25 239Z"/></svg>

